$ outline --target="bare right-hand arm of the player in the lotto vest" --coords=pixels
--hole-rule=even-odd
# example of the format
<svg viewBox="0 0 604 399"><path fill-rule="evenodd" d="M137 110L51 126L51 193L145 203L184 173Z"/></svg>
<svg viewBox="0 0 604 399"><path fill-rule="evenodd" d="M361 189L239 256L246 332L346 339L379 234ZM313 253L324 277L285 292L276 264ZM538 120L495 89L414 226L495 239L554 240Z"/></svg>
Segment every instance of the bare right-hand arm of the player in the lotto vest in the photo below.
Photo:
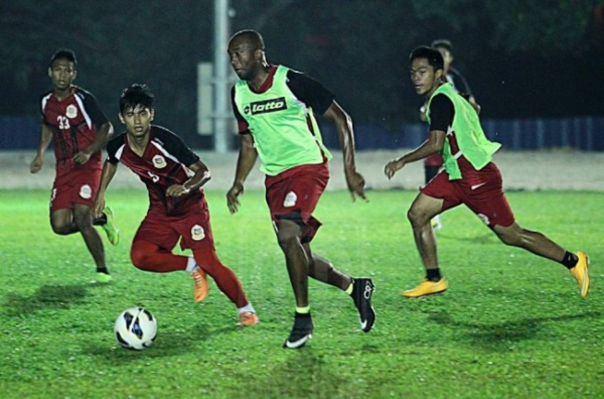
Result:
<svg viewBox="0 0 604 399"><path fill-rule="evenodd" d="M356 171L355 134L352 129L352 118L335 100L327 108L327 111L324 112L323 117L336 125L338 140L342 148L342 154L344 155L344 175L352 200L355 201L355 195L358 195L367 201L364 188L365 179Z"/></svg>

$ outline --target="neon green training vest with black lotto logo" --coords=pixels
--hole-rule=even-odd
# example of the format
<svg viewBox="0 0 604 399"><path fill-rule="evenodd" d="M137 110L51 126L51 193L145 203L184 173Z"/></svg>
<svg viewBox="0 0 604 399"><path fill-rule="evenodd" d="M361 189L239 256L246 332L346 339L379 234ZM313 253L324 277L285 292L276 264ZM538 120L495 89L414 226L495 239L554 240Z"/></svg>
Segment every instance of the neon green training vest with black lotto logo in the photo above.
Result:
<svg viewBox="0 0 604 399"><path fill-rule="evenodd" d="M288 88L288 71L279 65L271 88L262 94L252 92L245 80L235 83L235 105L254 137L262 162L260 170L270 176L295 166L323 163L323 154L328 160L332 158L323 145L312 108Z"/></svg>

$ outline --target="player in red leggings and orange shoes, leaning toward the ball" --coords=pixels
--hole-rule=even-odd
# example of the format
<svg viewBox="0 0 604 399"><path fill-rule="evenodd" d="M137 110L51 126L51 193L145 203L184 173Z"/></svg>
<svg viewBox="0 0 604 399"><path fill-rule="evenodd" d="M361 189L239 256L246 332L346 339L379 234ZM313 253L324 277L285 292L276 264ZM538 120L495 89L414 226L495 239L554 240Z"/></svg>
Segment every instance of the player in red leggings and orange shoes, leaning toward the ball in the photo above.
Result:
<svg viewBox="0 0 604 399"><path fill-rule="evenodd" d="M130 249L135 267L155 273L187 271L193 277L197 302L208 294L206 273L210 274L237 307L239 324L254 325L258 322L254 307L235 273L216 255L210 211L201 189L210 180L210 171L177 135L151 124L155 116L153 94L146 85L134 84L124 89L118 116L126 125L126 132L107 144L108 158L103 165L95 212L103 209L105 190L118 162L123 163L149 191L149 210ZM179 239L181 248L190 248L193 256L171 252Z"/></svg>

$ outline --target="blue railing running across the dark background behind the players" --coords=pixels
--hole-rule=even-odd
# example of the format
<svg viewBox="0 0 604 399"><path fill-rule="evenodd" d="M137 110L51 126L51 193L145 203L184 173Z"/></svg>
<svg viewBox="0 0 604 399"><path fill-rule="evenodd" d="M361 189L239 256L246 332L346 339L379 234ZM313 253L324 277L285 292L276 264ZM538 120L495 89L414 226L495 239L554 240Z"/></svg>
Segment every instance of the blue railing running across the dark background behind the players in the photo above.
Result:
<svg viewBox="0 0 604 399"><path fill-rule="evenodd" d="M484 120L483 129L490 140L504 149L535 150L574 148L604 151L604 117L564 119ZM39 120L30 117L0 117L0 150L35 149L40 131ZM328 148L339 148L333 125L321 126ZM371 125L355 125L359 150L414 148L426 136L426 125L408 123L393 132ZM186 137L183 137L187 141Z"/></svg>

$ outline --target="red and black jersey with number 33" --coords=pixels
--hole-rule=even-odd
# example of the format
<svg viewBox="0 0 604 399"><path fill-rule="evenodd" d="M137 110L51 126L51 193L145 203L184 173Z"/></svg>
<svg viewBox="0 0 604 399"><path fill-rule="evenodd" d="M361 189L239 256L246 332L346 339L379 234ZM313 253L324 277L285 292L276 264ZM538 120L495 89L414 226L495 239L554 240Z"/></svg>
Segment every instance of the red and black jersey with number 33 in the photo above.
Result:
<svg viewBox="0 0 604 399"><path fill-rule="evenodd" d="M40 111L42 123L53 131L57 171L77 167L71 159L88 148L98 129L108 122L94 96L78 86L73 86L71 94L63 101L59 101L53 91L43 94ZM100 169L101 166L101 152L98 151L83 167Z"/></svg>

